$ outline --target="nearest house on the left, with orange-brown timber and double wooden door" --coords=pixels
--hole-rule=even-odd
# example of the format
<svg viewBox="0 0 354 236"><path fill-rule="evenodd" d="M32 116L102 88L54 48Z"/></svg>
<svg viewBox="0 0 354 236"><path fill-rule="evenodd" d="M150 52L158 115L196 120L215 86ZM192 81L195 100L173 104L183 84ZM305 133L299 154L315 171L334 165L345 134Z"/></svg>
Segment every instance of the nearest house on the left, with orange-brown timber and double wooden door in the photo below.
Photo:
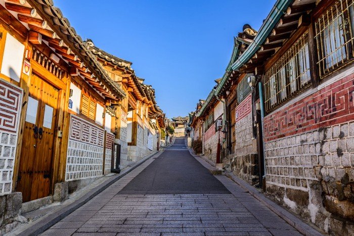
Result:
<svg viewBox="0 0 354 236"><path fill-rule="evenodd" d="M106 104L125 93L51 2L1 0L0 13L3 225L22 202L52 196L57 183L73 191L103 175Z"/></svg>

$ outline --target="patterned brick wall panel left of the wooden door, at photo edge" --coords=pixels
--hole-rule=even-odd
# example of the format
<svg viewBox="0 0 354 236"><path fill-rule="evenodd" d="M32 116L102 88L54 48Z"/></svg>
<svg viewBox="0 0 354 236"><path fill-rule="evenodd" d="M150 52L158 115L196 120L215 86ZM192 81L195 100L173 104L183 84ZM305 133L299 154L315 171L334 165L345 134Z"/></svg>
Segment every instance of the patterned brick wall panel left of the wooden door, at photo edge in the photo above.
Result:
<svg viewBox="0 0 354 236"><path fill-rule="evenodd" d="M22 89L0 79L0 196L12 191Z"/></svg>

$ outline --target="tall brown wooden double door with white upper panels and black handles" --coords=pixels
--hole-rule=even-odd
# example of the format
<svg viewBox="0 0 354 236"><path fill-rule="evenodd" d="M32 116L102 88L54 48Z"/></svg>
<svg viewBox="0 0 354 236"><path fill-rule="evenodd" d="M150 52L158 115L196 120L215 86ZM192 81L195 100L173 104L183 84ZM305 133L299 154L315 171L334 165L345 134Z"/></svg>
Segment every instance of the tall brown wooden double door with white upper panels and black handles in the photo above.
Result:
<svg viewBox="0 0 354 236"><path fill-rule="evenodd" d="M31 75L16 186L23 202L49 195L58 96L58 89Z"/></svg>

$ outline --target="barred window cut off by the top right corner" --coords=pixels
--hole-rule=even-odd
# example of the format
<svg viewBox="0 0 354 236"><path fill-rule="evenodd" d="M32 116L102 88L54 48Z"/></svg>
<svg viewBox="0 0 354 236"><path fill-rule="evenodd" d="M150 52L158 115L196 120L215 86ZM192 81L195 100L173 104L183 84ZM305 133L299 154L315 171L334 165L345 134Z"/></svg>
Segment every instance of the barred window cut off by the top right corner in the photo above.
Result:
<svg viewBox="0 0 354 236"><path fill-rule="evenodd" d="M336 1L316 20L320 78L340 69L354 57L354 0Z"/></svg>

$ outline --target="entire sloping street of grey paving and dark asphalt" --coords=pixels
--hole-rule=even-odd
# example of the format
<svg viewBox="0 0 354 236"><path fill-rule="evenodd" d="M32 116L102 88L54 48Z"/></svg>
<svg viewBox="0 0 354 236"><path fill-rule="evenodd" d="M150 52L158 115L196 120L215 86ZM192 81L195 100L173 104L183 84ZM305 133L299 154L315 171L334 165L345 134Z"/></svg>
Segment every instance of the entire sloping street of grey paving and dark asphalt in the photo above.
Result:
<svg viewBox="0 0 354 236"><path fill-rule="evenodd" d="M300 235L185 149L176 139L42 235Z"/></svg>

